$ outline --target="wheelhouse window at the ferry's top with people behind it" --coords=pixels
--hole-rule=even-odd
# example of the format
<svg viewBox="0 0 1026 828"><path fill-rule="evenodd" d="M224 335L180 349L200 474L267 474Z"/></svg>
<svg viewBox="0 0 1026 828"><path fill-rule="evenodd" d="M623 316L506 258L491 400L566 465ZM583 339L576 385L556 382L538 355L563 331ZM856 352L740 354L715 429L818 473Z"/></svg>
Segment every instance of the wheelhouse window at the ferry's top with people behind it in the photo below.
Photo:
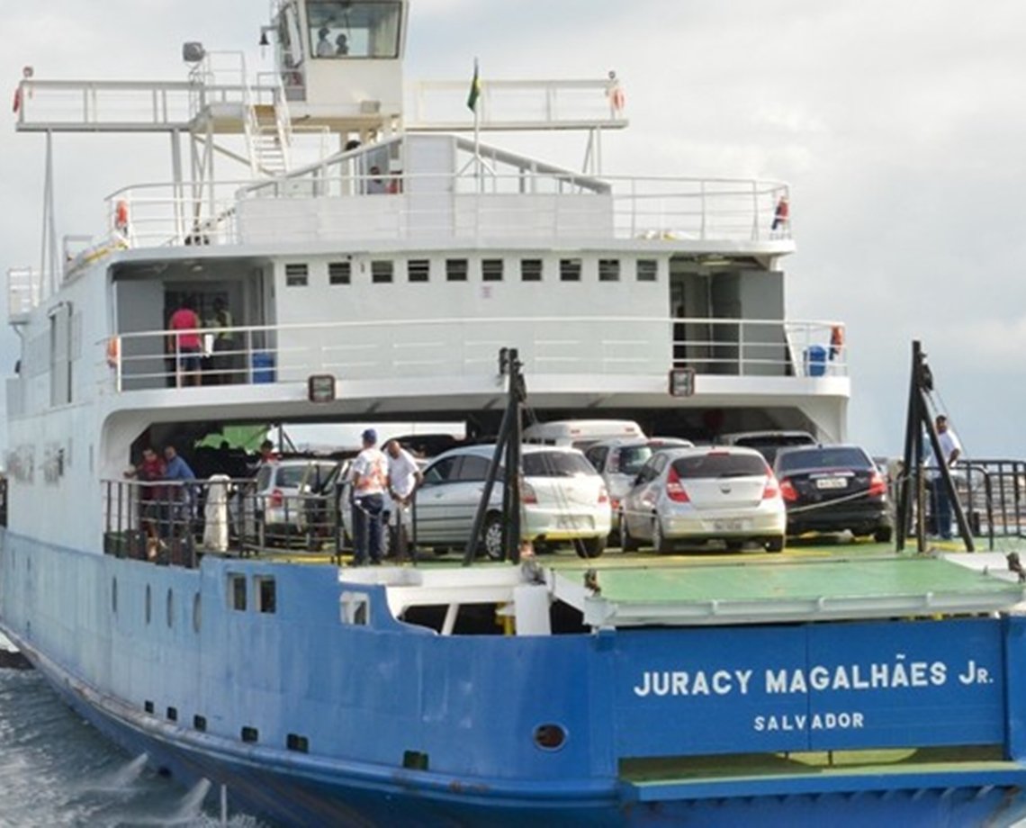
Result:
<svg viewBox="0 0 1026 828"><path fill-rule="evenodd" d="M401 4L393 0L307 0L314 57L398 57Z"/></svg>

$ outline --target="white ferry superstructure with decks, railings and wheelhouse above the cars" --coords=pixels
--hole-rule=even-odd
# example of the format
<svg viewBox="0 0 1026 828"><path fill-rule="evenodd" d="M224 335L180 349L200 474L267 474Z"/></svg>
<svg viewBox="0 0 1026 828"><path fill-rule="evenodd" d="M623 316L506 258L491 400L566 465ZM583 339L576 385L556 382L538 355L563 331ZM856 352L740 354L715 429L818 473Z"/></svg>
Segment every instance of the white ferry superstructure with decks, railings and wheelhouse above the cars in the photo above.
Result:
<svg viewBox="0 0 1026 828"><path fill-rule="evenodd" d="M8 275L18 531L98 543L100 481L143 441L216 425L494 432L503 347L519 349L543 417L843 439L843 328L785 315L786 185L604 174L603 135L627 125L615 79L485 81L475 129L466 83L404 91L406 11L282 0L262 32L275 71L256 77L192 44L182 82L23 81L18 129L46 135L48 175L42 267ZM528 129L582 131L584 171L492 140ZM58 239L52 145L79 131L166 132L170 174L97 201L104 237ZM208 331L229 347L199 387L182 387L167 350L187 297L204 322L216 300L232 320ZM333 401L310 401L312 376L333 381ZM54 520L53 503L75 513Z"/></svg>

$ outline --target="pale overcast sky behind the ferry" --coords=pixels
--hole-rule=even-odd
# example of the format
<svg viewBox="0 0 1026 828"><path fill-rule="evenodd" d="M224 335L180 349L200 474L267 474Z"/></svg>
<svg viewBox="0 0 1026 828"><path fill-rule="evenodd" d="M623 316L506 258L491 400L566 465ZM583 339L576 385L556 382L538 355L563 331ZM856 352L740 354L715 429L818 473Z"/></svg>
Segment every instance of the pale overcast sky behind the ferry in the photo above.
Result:
<svg viewBox="0 0 1026 828"><path fill-rule="evenodd" d="M181 44L248 49L266 0L3 0L0 77L185 76ZM103 13L97 13L102 5ZM240 10L242 9L242 10ZM413 0L407 78L599 78L631 128L618 174L759 176L792 187L788 314L849 325L850 435L900 449L921 338L971 455L1026 457L1026 3L1022 0ZM264 68L267 68L265 66ZM9 110L8 110L9 112ZM167 140L57 136L58 234L103 197L163 181ZM42 139L0 130L4 268L39 261ZM579 166L583 143L553 147ZM15 341L0 339L0 364ZM7 368L9 369L9 368Z"/></svg>

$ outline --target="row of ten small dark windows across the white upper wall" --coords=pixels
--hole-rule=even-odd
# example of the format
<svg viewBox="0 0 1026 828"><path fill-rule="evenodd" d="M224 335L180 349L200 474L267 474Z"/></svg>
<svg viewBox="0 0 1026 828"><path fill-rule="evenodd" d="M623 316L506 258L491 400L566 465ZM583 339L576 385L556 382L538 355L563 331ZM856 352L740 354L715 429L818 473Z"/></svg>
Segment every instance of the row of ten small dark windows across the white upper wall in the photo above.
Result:
<svg viewBox="0 0 1026 828"><path fill-rule="evenodd" d="M427 282L431 279L431 260L410 259L406 261L406 281ZM579 282L584 270L582 259L560 259L559 280ZM598 280L619 282L623 263L619 259L598 260ZM520 260L520 281L540 282L545 275L545 263L541 259ZM659 277L659 262L655 259L639 259L635 262L635 279L639 282L655 282ZM351 262L330 262L327 266L328 284L351 284L353 265ZM445 260L445 281L466 282L470 277L470 261L467 259ZM503 259L481 260L481 280L501 282L506 278L506 261ZM373 260L370 263L370 281L373 284L389 284L396 279L396 263L391 260ZM306 264L285 265L285 285L306 287L310 283L310 266Z"/></svg>

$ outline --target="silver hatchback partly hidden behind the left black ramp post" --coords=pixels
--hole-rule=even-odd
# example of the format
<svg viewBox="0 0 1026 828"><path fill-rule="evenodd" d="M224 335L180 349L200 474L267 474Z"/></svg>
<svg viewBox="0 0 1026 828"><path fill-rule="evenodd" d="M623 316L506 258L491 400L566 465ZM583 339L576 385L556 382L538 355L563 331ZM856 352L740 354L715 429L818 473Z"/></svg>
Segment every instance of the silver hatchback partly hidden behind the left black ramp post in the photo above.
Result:
<svg viewBox="0 0 1026 828"><path fill-rule="evenodd" d="M522 537L536 544L573 543L581 557L602 554L611 513L598 472L576 448L524 445L521 450ZM424 470L412 510L418 546L459 547L469 541L494 452L494 445L463 446ZM503 556L502 502L502 485L496 485L482 533L483 551L492 559Z"/></svg>

